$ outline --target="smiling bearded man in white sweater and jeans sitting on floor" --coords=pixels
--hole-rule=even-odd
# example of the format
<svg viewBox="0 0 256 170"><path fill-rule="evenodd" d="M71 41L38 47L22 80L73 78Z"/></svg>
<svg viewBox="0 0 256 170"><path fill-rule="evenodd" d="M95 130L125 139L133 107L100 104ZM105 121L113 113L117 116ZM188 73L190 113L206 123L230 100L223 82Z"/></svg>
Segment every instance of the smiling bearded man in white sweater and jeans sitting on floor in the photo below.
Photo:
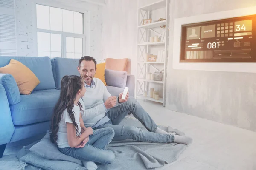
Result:
<svg viewBox="0 0 256 170"><path fill-rule="evenodd" d="M122 93L118 97L111 96L104 83L100 79L94 78L96 64L93 57L84 56L81 57L78 65L78 71L84 79L86 88L86 93L82 97L85 105L82 118L86 127L93 129L112 127L115 131L113 140L133 139L141 142L192 143L192 139L188 136L178 136L158 128L140 103L134 97L129 97L129 93L125 100L121 99ZM134 126L119 125L128 113L132 113L148 131Z"/></svg>

